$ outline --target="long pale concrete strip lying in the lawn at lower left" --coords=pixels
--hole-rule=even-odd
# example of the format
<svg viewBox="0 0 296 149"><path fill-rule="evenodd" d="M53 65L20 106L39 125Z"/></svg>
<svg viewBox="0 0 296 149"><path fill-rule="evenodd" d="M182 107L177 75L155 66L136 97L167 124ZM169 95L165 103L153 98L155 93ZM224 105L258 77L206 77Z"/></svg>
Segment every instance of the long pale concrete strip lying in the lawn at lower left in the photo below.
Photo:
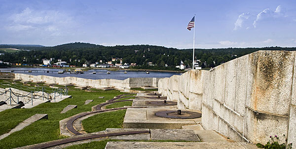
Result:
<svg viewBox="0 0 296 149"><path fill-rule="evenodd" d="M19 123L15 128L11 129L8 133L1 135L0 140L2 140L3 138L6 138L7 136L9 136L10 134L12 134L14 132L22 130L23 128L34 123L35 121L40 120L40 119L44 119L44 118L48 119L48 115L47 114L35 114L35 115L27 118L23 122Z"/></svg>

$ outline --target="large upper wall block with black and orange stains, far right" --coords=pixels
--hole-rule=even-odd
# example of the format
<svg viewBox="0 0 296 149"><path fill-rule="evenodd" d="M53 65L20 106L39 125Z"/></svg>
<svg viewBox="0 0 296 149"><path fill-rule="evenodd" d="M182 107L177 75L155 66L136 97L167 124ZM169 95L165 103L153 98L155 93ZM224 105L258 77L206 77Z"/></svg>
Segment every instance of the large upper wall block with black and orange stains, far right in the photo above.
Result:
<svg viewBox="0 0 296 149"><path fill-rule="evenodd" d="M249 55L247 105L250 108L288 115L294 58L291 51L258 51Z"/></svg>

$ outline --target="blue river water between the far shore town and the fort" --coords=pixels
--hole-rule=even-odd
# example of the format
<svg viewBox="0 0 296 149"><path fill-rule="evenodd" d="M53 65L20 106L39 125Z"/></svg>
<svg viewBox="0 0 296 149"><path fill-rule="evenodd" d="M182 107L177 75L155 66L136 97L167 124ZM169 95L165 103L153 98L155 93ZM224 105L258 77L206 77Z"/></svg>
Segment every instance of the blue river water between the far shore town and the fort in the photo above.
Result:
<svg viewBox="0 0 296 149"><path fill-rule="evenodd" d="M32 74L32 75L49 75L49 76L56 76L56 77L66 77L66 76L75 76L75 77L82 77L82 78L89 78L89 79L126 79L129 77L170 77L172 75L181 75L182 73L171 73L171 72L149 72L147 74L145 71L110 71L110 74L107 74L108 70L89 70L84 72L84 74L58 74L59 71L63 71L61 69L50 69L50 68L5 68L0 69L1 72L10 72L11 70L14 73L19 74ZM32 70L32 73L28 73L29 70ZM47 73L48 71L48 73ZM96 72L96 74L93 74Z"/></svg>

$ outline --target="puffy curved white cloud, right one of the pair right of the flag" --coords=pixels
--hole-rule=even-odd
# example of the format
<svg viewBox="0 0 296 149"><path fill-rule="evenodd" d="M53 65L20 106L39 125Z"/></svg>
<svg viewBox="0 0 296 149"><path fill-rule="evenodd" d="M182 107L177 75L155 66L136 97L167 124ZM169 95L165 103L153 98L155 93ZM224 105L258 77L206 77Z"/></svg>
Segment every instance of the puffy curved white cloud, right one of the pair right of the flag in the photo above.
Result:
<svg viewBox="0 0 296 149"><path fill-rule="evenodd" d="M264 9L263 11L258 13L256 20L253 22L253 26L254 28L256 28L258 22L264 19L286 17L284 15L285 12L286 12L285 9L282 8L281 5L278 5L275 11L270 10L269 8Z"/></svg>

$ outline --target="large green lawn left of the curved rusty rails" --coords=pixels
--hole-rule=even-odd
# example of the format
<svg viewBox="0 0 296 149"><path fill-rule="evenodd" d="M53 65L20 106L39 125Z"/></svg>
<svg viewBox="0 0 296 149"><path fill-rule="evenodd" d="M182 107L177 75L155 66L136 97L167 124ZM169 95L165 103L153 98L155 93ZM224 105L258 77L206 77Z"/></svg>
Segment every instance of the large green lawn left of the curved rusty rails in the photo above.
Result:
<svg viewBox="0 0 296 149"><path fill-rule="evenodd" d="M8 137L0 140L0 149L11 149L61 139L63 137L60 136L60 120L80 112L91 111L92 106L103 103L120 94L124 93L116 90L101 92L85 92L82 90L69 91L69 95L72 95L73 98L65 99L59 103L43 103L32 109L10 109L0 112L0 135L9 132L9 130L14 128L20 122L36 113L48 114L48 119L38 120L24 129L12 133ZM98 99L98 96L105 96L105 98ZM88 105L84 105L84 102L87 99L94 99L94 101ZM60 112L68 105L77 105L77 108L61 114ZM124 115L124 113L125 112L121 114ZM109 115L109 118L110 117L113 118L114 116Z"/></svg>

